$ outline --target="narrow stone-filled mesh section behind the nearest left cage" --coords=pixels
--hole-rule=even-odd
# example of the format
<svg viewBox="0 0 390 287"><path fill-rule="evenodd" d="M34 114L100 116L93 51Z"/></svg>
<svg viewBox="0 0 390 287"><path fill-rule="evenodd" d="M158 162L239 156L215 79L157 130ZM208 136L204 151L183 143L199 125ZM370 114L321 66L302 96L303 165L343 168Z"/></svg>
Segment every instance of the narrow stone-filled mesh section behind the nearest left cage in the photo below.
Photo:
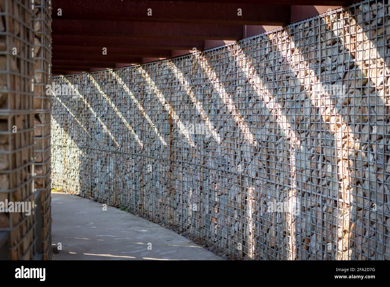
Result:
<svg viewBox="0 0 390 287"><path fill-rule="evenodd" d="M51 4L50 0L34 2L34 109L35 109L35 189L41 193L41 237L43 259L51 257Z"/></svg>

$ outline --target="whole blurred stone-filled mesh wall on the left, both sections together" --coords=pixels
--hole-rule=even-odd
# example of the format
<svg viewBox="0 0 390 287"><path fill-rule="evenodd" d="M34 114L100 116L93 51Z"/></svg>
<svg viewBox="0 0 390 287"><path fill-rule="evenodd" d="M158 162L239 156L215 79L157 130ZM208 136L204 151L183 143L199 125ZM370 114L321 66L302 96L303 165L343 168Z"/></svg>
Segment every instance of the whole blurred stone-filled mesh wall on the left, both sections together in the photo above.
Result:
<svg viewBox="0 0 390 287"><path fill-rule="evenodd" d="M50 2L0 0L0 259L51 258Z"/></svg>

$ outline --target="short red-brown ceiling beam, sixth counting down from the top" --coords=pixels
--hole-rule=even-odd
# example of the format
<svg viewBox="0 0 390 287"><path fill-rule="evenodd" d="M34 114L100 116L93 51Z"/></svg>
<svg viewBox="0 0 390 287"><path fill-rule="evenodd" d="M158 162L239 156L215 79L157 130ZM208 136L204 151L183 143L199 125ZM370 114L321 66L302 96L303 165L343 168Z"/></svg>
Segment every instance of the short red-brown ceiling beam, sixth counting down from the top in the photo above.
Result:
<svg viewBox="0 0 390 287"><path fill-rule="evenodd" d="M52 53L53 60L77 60L90 62L114 62L114 63L140 63L141 57L133 56L115 56L115 55L80 55L77 53Z"/></svg>

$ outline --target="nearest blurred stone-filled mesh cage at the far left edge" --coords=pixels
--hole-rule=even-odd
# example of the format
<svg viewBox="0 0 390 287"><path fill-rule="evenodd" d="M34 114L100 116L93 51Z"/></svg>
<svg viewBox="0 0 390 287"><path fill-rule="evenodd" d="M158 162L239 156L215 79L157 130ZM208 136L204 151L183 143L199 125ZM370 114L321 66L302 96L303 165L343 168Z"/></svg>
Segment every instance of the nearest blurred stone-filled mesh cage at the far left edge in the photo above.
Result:
<svg viewBox="0 0 390 287"><path fill-rule="evenodd" d="M3 1L0 18L0 201L29 202L32 207L30 216L0 213L0 232L9 232L9 259L32 259L36 234L30 1Z"/></svg>

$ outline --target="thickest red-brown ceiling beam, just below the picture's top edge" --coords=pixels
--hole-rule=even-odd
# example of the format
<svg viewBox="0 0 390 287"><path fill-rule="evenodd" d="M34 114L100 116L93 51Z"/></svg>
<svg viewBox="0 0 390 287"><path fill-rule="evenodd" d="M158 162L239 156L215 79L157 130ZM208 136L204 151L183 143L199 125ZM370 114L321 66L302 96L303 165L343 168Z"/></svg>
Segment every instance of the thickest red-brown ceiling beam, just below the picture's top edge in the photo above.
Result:
<svg viewBox="0 0 390 287"><path fill-rule="evenodd" d="M269 3L267 3L269 4ZM204 2L158 2L122 0L56 0L53 19L121 20L176 23L221 23L236 25L285 25L289 5L229 4ZM151 10L149 10L151 9ZM238 15L241 9L241 15ZM149 13L149 14L148 14Z"/></svg>

